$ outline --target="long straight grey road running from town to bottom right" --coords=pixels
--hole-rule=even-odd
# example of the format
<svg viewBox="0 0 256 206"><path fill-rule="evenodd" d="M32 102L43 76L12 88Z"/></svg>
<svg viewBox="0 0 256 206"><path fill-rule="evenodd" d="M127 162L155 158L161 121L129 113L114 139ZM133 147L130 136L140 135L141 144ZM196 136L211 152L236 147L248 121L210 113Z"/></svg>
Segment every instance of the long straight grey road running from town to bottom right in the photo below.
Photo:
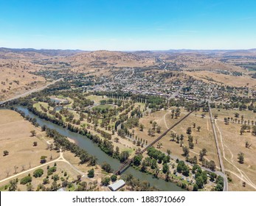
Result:
<svg viewBox="0 0 256 206"><path fill-rule="evenodd" d="M226 178L226 175L225 175L225 168L224 168L224 163L223 163L222 156L221 156L221 149L220 149L220 146L218 144L218 136L217 136L217 131L216 131L216 128L215 128L215 120L212 118L212 110L211 110L211 107L210 107L211 91L209 91L209 93L210 94L209 94L209 100L208 100L208 107L209 107L210 121L211 121L211 124L212 124L212 131L213 131L213 135L214 135L214 138L215 138L215 144L216 144L216 148L217 148L218 160L219 160L219 163L220 163L220 166L221 166L221 172L222 172L221 177L224 178L224 189L223 189L223 191L228 191L228 182L227 182L227 178Z"/></svg>

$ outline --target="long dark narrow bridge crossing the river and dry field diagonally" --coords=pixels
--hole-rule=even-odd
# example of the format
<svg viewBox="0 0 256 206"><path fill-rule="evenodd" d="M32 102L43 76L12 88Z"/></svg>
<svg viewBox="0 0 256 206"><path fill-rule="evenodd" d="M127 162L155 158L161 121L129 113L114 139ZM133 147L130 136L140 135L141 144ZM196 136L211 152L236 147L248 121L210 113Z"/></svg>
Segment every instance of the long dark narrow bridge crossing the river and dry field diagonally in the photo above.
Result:
<svg viewBox="0 0 256 206"><path fill-rule="evenodd" d="M168 132L170 132L171 129L173 129L174 127L176 127L179 123L181 123L181 121L183 121L185 118L187 118L188 116L190 116L190 114L193 113L193 110L190 111L190 113L187 113L186 116L182 117L181 119L179 119L179 121L177 121L175 124L173 124L169 129L167 129L164 133L162 133L162 135L160 135L158 138L156 138L153 142L149 143L148 146L145 147L145 149L142 149L141 152L139 152L136 155L142 154L144 153L148 147L153 146L153 144L155 144L156 142L158 142L159 140L161 140L165 135L167 135ZM125 160L125 162L122 163L122 165L118 168L118 170L114 173L114 174L121 174L122 171L125 170L125 168L128 168L128 166L130 166L131 162L134 161L134 157L132 157L131 159L127 159Z"/></svg>

